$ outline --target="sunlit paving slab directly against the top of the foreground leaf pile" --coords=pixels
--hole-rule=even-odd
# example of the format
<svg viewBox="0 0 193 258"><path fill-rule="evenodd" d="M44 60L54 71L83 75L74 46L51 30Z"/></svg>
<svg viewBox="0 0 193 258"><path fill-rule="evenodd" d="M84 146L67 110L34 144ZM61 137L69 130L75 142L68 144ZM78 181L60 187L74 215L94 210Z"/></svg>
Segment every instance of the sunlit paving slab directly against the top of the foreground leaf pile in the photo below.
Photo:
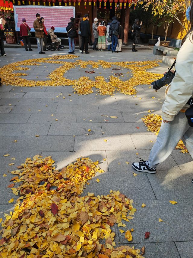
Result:
<svg viewBox="0 0 193 258"><path fill-rule="evenodd" d="M93 162L99 161L100 167L108 171L108 164L105 151L75 151L75 152L42 152L43 157L52 156L55 160L57 169L62 169L70 163L76 161L77 158L90 158Z"/></svg>

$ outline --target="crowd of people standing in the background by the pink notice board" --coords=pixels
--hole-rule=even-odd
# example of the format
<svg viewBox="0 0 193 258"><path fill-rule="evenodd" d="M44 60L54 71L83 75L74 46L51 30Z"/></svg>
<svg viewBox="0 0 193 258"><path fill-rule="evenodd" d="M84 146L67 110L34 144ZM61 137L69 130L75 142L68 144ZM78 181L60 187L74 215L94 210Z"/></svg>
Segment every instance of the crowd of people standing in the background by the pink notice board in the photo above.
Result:
<svg viewBox="0 0 193 258"><path fill-rule="evenodd" d="M63 48L61 44L61 39L55 35L55 28L52 26L48 31L45 27L45 19L40 16L39 13L36 14L36 20L33 22L33 28L35 30L35 35L37 39L37 46L39 54L45 54L46 45L47 45L47 37L50 36L51 41L55 42L58 50ZM132 26L133 33L133 47L132 51L137 52L135 49L135 44L140 43L140 30L141 30L142 22L139 25L139 20L136 19ZM25 50L32 51L30 44L30 30L31 28L26 23L26 19L22 19L22 24L20 25L20 36L23 39ZM71 17L68 25L66 27L67 35L68 35L68 43L69 43L69 51L68 54L74 54L75 51L75 38L79 38L79 51L83 54L89 54L88 52L88 44L89 39L91 38L91 30L90 30L90 22L89 15L85 14L83 18L80 18L78 26L76 26L75 18ZM108 24L105 24L104 21L98 21L97 18L94 18L92 24L92 32L93 32L93 50L94 51L104 51L107 50L112 53L122 52L122 41L124 38L123 27L120 25L117 17L114 16L112 20L109 20ZM28 44L28 47L27 47Z"/></svg>

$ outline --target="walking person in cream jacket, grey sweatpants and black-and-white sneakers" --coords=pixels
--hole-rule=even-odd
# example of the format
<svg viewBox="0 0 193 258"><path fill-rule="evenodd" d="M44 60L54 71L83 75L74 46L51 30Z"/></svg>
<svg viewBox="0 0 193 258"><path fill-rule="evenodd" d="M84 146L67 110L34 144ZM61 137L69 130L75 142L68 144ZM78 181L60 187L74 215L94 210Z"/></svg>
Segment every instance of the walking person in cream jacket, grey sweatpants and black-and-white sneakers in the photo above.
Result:
<svg viewBox="0 0 193 258"><path fill-rule="evenodd" d="M176 73L166 88L166 99L162 106L162 124L157 141L151 149L149 159L134 162L132 167L141 172L156 173L161 164L172 153L182 139L193 158L193 127L188 125L186 103L193 97L193 5L190 10L191 28L182 40L176 57Z"/></svg>

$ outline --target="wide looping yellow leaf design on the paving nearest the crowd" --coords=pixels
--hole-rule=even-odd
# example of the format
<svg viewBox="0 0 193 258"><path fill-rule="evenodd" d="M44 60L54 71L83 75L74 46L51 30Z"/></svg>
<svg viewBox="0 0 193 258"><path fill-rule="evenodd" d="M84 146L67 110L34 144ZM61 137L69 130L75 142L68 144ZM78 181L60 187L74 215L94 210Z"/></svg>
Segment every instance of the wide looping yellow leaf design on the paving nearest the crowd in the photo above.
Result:
<svg viewBox="0 0 193 258"><path fill-rule="evenodd" d="M160 60L153 61L138 61L138 62L114 62L110 63L103 60L98 61L83 61L76 60L75 62L64 61L65 59L73 59L78 56L74 55L59 55L46 58L28 59L24 61L18 61L12 64L5 65L0 71L0 77L2 83L12 86L21 87L35 87L35 86L60 86L60 85L72 85L74 92L78 94L89 94L93 93L92 87L96 87L100 95L112 95L115 90L120 93L132 95L136 94L136 87L140 84L150 84L154 80L160 79L163 75L150 73L147 69L159 66ZM49 73L46 81L35 81L21 78L26 76L27 73L14 73L18 70L30 70L26 66L40 66L44 63L48 64L61 64L60 67L56 68L53 72ZM91 65L92 68L98 68L99 66L103 69L110 68L113 65L119 66L125 69L130 69L133 77L129 80L123 81L120 77L110 76L109 81L106 82L103 76L96 76L95 81L90 80L89 77L80 77L78 80L70 80L65 78L65 72L71 68L77 66L86 68ZM9 76L6 76L9 74ZM58 97L58 96L56 96Z"/></svg>

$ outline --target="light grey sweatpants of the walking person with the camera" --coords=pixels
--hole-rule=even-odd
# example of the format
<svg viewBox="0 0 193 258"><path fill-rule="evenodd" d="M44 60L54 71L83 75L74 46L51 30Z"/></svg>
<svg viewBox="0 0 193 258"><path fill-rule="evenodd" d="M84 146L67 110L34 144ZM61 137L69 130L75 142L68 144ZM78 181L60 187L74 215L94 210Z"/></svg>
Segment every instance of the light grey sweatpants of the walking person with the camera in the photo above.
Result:
<svg viewBox="0 0 193 258"><path fill-rule="evenodd" d="M157 140L151 149L149 165L156 168L169 157L173 149L182 139L193 158L193 127L188 125L185 113L179 112L175 119L169 123L162 121Z"/></svg>

